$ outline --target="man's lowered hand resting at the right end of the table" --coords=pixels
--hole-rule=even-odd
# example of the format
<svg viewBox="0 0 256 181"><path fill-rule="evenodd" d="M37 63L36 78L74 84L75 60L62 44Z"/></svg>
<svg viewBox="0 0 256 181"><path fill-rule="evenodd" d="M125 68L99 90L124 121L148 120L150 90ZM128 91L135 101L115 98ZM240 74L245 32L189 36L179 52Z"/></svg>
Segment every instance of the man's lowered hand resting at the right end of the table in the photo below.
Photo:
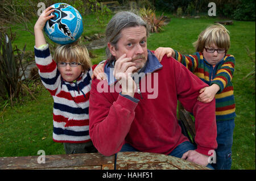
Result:
<svg viewBox="0 0 256 181"><path fill-rule="evenodd" d="M181 158L203 166L207 166L209 163L209 156L198 153L196 150L188 150Z"/></svg>

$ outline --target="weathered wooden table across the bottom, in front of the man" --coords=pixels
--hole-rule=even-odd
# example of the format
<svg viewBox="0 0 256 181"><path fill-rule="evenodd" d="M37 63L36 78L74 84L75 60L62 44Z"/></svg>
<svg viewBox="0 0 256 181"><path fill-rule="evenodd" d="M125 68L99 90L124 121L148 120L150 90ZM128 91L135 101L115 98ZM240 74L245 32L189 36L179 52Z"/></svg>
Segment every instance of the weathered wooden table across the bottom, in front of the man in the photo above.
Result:
<svg viewBox="0 0 256 181"><path fill-rule="evenodd" d="M119 152L105 157L100 153L46 155L45 163L39 156L0 157L0 170L16 169L77 169L77 170L207 170L184 159L158 153Z"/></svg>

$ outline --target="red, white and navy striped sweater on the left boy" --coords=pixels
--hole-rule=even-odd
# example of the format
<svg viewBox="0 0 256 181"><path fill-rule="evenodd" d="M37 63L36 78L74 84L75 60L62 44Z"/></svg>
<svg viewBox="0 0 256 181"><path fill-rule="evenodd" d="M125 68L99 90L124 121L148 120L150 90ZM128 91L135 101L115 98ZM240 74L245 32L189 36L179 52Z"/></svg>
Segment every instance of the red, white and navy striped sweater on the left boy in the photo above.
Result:
<svg viewBox="0 0 256 181"><path fill-rule="evenodd" d="M53 97L53 141L82 143L90 141L89 95L92 68L74 82L61 78L48 45L35 47L35 61L43 85Z"/></svg>

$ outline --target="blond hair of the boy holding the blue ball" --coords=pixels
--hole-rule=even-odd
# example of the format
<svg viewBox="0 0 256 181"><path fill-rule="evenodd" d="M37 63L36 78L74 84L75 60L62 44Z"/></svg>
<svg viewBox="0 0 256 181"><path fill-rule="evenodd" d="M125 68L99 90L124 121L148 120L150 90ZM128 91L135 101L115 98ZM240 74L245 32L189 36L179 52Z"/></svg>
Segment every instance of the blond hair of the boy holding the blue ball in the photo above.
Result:
<svg viewBox="0 0 256 181"><path fill-rule="evenodd" d="M82 68L88 70L92 63L85 45L79 45L77 41L72 44L59 45L54 53L54 60L57 62L75 61L82 64Z"/></svg>

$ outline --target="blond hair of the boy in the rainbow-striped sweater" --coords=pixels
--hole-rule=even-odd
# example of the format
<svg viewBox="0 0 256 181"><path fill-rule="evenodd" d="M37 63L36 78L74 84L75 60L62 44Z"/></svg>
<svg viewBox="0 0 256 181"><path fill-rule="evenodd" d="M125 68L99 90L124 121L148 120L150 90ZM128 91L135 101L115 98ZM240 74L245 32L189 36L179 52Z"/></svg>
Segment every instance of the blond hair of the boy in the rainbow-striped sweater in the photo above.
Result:
<svg viewBox="0 0 256 181"><path fill-rule="evenodd" d="M218 48L226 49L226 52L230 47L229 31L219 23L209 26L202 31L197 41L193 43L193 46L196 48L196 52L203 52L205 46L212 44L215 44Z"/></svg>

